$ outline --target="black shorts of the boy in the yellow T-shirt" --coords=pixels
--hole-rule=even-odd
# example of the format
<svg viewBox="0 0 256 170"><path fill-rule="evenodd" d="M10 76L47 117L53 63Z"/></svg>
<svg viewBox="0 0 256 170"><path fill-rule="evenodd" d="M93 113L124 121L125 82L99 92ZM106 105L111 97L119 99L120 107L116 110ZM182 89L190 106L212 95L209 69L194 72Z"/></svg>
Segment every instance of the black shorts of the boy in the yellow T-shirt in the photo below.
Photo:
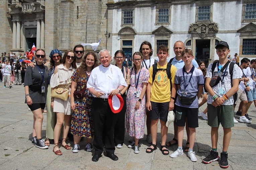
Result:
<svg viewBox="0 0 256 170"><path fill-rule="evenodd" d="M164 103L151 102L152 110L150 111L150 119L151 120L160 119L166 122L167 116L168 116L169 103L170 102L164 102Z"/></svg>

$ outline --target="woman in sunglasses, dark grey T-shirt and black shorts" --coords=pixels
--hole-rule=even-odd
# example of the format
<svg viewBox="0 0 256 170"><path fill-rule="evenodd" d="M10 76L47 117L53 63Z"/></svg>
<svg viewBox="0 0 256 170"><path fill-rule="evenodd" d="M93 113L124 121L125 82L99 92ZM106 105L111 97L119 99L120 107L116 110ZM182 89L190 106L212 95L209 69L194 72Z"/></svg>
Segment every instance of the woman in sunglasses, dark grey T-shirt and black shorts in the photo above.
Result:
<svg viewBox="0 0 256 170"><path fill-rule="evenodd" d="M44 66L45 51L37 49L35 51L35 64L34 68L27 67L25 72L25 103L33 113L33 134L32 144L40 149L46 149L49 146L45 145L45 141L41 137L42 115L46 105L46 94L48 87L48 74L47 68Z"/></svg>

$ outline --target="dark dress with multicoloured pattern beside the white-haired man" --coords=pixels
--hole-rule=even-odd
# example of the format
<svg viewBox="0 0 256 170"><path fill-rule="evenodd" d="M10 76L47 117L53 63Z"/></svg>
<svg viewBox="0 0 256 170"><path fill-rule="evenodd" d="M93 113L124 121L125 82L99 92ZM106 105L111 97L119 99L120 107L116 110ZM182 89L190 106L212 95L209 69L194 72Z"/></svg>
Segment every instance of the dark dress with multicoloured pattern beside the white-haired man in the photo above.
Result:
<svg viewBox="0 0 256 170"><path fill-rule="evenodd" d="M89 75L81 77L78 75L79 70L76 70L71 79L77 83L77 90L80 91L86 88ZM88 91L85 90L84 98L75 99L76 109L71 113L70 132L79 137L92 138L94 136L93 121L91 117L92 99L88 96Z"/></svg>

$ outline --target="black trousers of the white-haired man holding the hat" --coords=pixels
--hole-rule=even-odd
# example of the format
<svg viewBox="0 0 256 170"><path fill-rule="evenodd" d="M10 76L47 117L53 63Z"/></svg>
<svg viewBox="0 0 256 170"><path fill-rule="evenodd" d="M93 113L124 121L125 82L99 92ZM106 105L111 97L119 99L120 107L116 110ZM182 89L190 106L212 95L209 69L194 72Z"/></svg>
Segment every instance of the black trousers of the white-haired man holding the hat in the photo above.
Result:
<svg viewBox="0 0 256 170"><path fill-rule="evenodd" d="M107 101L101 98L92 100L92 119L94 128L93 147L95 154L100 155L103 152L103 143L107 155L114 154L114 127L118 114L114 114ZM104 140L104 141L103 141Z"/></svg>

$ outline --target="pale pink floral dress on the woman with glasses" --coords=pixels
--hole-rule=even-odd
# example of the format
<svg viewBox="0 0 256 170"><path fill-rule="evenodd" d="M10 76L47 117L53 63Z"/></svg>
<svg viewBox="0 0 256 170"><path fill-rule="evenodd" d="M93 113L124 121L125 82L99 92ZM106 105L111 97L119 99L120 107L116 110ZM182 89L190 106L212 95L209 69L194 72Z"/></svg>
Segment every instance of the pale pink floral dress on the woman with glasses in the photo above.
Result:
<svg viewBox="0 0 256 170"><path fill-rule="evenodd" d="M149 71L142 67L138 88L136 89L136 83L138 80L139 73L136 74L136 83L135 83L135 69L130 69L131 74L131 87L129 88L126 96L126 121L125 127L126 132L130 136L136 137L137 139L144 137L145 129L145 118L146 118L146 95L144 95L140 108L135 110L134 107L139 98L135 98L134 92L139 91L141 93L143 83L148 83L149 80Z"/></svg>

